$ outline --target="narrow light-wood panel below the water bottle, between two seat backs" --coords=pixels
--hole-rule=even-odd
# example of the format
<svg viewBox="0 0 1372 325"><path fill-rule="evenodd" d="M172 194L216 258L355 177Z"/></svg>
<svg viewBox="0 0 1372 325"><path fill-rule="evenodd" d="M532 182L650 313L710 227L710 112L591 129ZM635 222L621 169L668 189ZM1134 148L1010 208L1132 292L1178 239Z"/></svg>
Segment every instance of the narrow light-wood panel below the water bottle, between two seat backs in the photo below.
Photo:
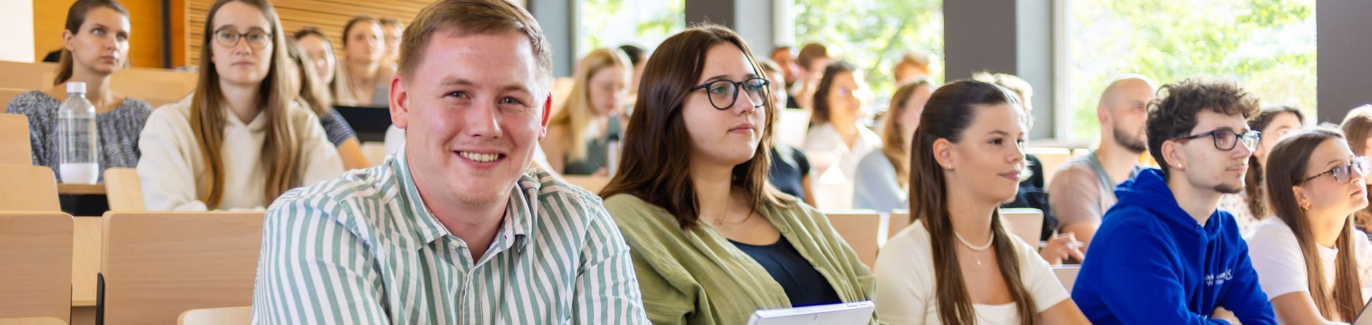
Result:
<svg viewBox="0 0 1372 325"><path fill-rule="evenodd" d="M71 307L95 306L96 274L100 273L102 217L74 217L71 236Z"/></svg>

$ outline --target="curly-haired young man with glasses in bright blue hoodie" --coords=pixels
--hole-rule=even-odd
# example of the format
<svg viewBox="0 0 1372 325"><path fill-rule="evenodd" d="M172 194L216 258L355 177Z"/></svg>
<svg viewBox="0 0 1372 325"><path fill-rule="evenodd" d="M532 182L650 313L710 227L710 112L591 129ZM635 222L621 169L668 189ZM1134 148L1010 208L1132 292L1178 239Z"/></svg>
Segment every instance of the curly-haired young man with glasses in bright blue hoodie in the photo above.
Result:
<svg viewBox="0 0 1372 325"><path fill-rule="evenodd" d="M1243 190L1255 97L1233 82L1166 85L1148 109L1146 169L1115 188L1073 300L1093 324L1276 324L1220 195Z"/></svg>

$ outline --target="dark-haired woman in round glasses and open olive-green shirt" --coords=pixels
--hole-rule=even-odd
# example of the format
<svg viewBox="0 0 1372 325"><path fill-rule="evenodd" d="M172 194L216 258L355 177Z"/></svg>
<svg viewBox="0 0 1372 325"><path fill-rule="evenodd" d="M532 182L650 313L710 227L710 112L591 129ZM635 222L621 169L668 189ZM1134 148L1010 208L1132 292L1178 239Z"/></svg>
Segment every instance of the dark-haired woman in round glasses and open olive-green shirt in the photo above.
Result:
<svg viewBox="0 0 1372 325"><path fill-rule="evenodd" d="M619 172L601 197L654 324L745 324L757 309L871 299L829 220L767 183L777 104L748 45L716 25L648 59Z"/></svg>

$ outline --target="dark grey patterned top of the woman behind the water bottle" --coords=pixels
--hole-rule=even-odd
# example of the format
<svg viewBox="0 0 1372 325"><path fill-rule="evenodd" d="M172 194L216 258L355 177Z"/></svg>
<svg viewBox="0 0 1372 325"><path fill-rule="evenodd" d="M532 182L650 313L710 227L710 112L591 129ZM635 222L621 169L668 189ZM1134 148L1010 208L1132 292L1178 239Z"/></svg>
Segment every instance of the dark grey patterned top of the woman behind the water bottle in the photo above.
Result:
<svg viewBox="0 0 1372 325"><path fill-rule="evenodd" d="M29 147L33 150L33 164L58 171L58 107L62 102L43 91L26 91L10 100L5 113L29 116ZM139 134L143 123L152 115L147 101L125 97L118 108L96 115L95 126L100 141L100 182L104 182L104 168L139 165ZM54 172L58 182L62 173Z"/></svg>

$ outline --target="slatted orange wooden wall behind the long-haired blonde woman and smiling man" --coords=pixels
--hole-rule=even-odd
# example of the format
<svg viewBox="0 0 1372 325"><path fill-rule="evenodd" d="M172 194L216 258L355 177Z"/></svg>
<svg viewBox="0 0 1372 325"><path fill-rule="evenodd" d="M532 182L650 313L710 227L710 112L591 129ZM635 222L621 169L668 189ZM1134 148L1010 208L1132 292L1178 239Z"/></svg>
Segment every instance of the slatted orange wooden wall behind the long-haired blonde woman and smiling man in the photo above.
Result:
<svg viewBox="0 0 1372 325"><path fill-rule="evenodd" d="M206 15L210 7L214 5L214 0L173 0L185 1L185 18L174 19L174 22L184 22L185 38L182 45L176 45L174 48L181 49L184 55L176 55L174 57L184 57L177 60L185 66L198 66L200 59L200 42L203 41ZM292 34L305 26L316 26L324 30L329 36L329 41L333 42L335 51L339 51L342 56L342 37L343 25L347 23L355 15L370 15L370 16L391 16L405 25L409 25L414 15L428 5L432 0L386 0L386 1L355 1L355 0L273 0L272 5L276 7L277 15L281 19L281 27L285 29L287 34ZM176 7L176 4L173 4ZM176 27L173 27L176 30ZM342 57L340 57L342 60Z"/></svg>

